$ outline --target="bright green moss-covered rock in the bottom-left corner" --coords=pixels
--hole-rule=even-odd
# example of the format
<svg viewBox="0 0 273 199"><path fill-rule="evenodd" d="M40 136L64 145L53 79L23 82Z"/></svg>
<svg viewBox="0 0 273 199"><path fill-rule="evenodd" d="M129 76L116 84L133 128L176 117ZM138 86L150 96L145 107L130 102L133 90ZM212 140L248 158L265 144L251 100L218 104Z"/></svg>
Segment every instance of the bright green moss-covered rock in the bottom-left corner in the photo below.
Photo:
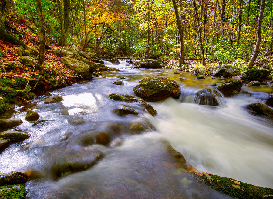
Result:
<svg viewBox="0 0 273 199"><path fill-rule="evenodd" d="M23 199L26 195L27 192L23 184L0 186L0 198L2 199Z"/></svg>

